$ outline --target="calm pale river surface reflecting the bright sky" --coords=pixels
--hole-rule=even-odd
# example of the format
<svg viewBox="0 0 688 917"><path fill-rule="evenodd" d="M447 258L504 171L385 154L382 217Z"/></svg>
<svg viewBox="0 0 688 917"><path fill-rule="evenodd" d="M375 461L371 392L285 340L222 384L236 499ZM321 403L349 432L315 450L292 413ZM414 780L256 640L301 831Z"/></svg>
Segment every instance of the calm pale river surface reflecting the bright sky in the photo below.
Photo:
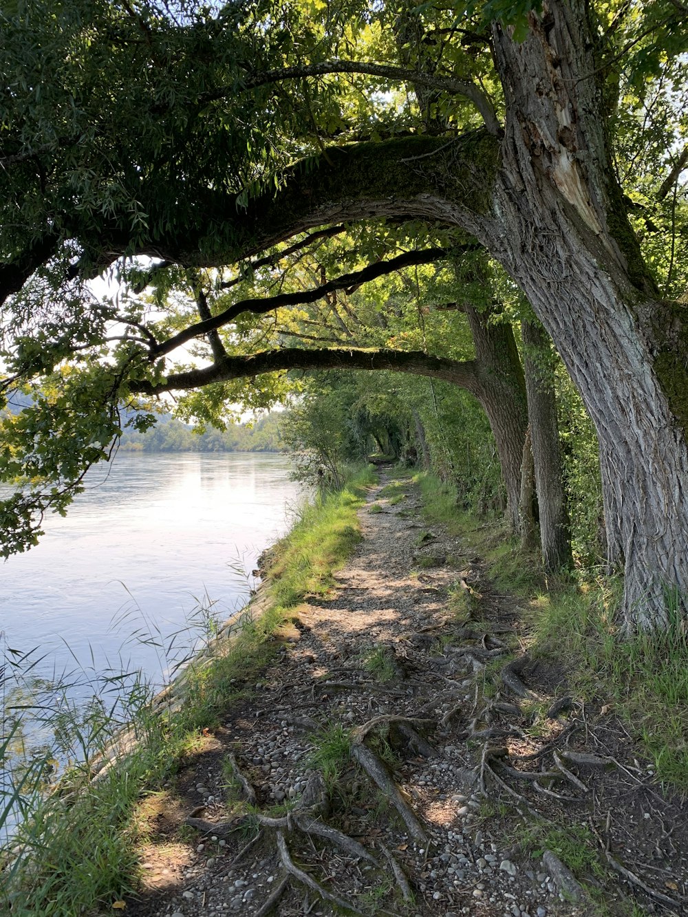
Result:
<svg viewBox="0 0 688 917"><path fill-rule="evenodd" d="M224 620L246 602L250 570L301 500L288 474L283 456L239 453L120 454L96 467L38 547L0 562L5 647L39 646L49 677L126 664L160 680L174 649L131 635L164 643L199 603Z"/></svg>

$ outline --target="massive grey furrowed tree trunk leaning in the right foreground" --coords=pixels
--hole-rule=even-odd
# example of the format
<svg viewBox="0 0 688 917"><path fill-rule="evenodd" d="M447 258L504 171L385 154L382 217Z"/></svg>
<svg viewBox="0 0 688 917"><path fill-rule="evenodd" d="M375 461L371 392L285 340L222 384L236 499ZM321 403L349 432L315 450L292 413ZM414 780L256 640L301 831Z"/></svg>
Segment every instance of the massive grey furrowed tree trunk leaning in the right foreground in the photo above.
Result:
<svg viewBox="0 0 688 917"><path fill-rule="evenodd" d="M674 350L682 316L653 297L612 178L583 0L552 0L521 44L495 27L494 47L508 116L499 231L488 226L483 239L527 294L593 418L626 622L667 624L668 595L683 609L688 595L685 370Z"/></svg>

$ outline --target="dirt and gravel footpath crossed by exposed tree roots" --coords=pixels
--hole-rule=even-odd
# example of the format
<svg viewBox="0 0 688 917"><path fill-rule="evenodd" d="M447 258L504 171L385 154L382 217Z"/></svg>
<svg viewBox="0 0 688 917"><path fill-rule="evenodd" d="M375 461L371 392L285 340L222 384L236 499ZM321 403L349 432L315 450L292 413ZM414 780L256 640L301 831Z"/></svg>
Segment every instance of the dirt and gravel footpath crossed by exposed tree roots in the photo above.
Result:
<svg viewBox="0 0 688 917"><path fill-rule="evenodd" d="M612 711L567 695L566 660L521 653L516 600L402 492L372 492L337 591L143 804L128 913L688 912L680 801Z"/></svg>

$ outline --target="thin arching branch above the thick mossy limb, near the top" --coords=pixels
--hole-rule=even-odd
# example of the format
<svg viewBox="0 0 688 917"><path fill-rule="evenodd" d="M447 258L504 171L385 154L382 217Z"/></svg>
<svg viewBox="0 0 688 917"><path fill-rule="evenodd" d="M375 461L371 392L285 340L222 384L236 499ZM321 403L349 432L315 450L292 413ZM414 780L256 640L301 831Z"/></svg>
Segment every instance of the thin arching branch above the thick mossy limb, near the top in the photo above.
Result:
<svg viewBox="0 0 688 917"><path fill-rule="evenodd" d="M237 85L211 90L203 94L202 101L204 103L213 102L217 99L225 98L227 95L236 95L241 90L258 89L270 83L282 83L283 80L298 80L309 76L327 76L330 73L360 73L368 76L380 76L384 80L416 83L419 86L427 86L429 89L437 89L453 95L462 95L478 109L481 116L483 116L485 127L491 134L497 137L502 131L502 127L494 113L492 101L476 83L370 61L320 61L319 63L300 64L295 67L278 67L273 70L253 72L244 77Z"/></svg>

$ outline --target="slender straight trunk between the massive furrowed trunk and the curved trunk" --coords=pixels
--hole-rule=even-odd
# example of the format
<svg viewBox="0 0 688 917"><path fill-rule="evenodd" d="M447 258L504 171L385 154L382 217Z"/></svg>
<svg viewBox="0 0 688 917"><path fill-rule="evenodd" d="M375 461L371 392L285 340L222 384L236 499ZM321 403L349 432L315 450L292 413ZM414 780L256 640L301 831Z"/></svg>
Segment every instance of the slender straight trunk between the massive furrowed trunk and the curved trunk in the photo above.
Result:
<svg viewBox="0 0 688 917"><path fill-rule="evenodd" d="M570 568L571 532L566 512L549 340L544 329L534 322L521 322L521 336L525 351L523 369L538 491L542 562L548 571Z"/></svg>

